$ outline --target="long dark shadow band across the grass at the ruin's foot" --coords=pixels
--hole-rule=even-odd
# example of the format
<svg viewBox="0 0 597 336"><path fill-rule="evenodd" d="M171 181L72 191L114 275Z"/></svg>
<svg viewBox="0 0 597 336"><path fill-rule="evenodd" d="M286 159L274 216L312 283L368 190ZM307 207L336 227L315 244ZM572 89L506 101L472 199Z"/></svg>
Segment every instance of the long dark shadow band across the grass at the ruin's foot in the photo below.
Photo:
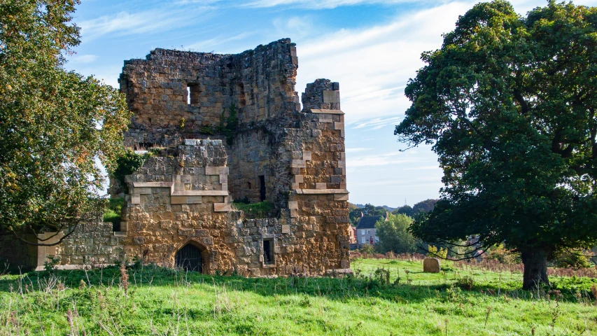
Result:
<svg viewBox="0 0 597 336"><path fill-rule="evenodd" d="M135 267L128 270L129 288L149 286L225 286L227 290L250 291L259 295L309 295L311 297L325 297L329 300L353 300L378 298L391 302L423 302L431 298L454 297L465 294L474 299L480 296L517 297L521 300L532 300L533 295L520 288L503 288L500 284L475 284L470 290L458 287L454 280L437 280L437 284L407 284L384 283L370 276L345 276L342 278L304 276L288 276L274 279L245 278L242 276L218 276L199 274L197 272L183 272L174 269L148 266ZM421 272L411 272L415 275ZM50 286L56 281L64 283L67 288L81 286L120 286L120 269L107 267L90 271L70 270L54 272L29 272L20 276L0 276L0 292L18 292L20 288L29 290L51 290ZM54 282L52 282L54 281ZM597 283L597 281L596 281ZM572 288L574 289L574 288ZM549 290L549 289L547 289ZM544 290L544 293L547 292ZM562 290L564 300L575 300L573 290ZM535 297L536 298L536 297Z"/></svg>

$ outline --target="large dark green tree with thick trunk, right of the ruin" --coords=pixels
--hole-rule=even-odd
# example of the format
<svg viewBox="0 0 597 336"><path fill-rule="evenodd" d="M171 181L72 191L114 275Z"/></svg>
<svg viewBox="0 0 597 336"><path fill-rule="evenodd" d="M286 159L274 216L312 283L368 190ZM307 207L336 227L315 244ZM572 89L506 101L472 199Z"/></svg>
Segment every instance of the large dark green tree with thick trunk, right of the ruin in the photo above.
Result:
<svg viewBox="0 0 597 336"><path fill-rule="evenodd" d="M548 283L549 258L597 241L596 8L549 1L520 17L479 3L422 59L395 134L433 144L444 188L412 232L507 244L523 288Z"/></svg>

